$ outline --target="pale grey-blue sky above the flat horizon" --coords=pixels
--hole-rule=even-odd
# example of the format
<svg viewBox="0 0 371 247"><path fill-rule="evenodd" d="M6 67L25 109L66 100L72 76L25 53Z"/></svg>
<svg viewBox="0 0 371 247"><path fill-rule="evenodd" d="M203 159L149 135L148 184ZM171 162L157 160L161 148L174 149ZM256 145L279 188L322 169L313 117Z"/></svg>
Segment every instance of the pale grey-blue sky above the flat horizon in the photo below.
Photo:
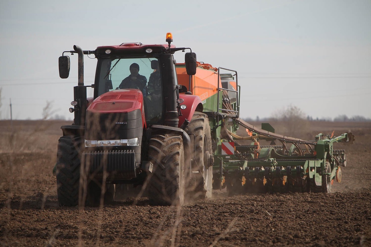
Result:
<svg viewBox="0 0 371 247"><path fill-rule="evenodd" d="M73 119L77 55L123 42L191 47L197 60L238 72L242 118L296 106L312 118L371 118L370 0L0 1L0 120ZM85 85L96 59L84 57ZM175 53L184 62L184 53ZM92 91L88 90L88 96Z"/></svg>

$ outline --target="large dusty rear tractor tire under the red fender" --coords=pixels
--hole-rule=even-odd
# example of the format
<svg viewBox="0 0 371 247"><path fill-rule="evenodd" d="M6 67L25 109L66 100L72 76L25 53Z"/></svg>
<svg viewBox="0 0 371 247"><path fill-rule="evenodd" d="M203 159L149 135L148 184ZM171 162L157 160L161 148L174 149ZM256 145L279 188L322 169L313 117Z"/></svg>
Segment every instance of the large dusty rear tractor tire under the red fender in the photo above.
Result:
<svg viewBox="0 0 371 247"><path fill-rule="evenodd" d="M195 112L185 132L191 139L192 168L198 171L192 173L191 185L187 187L189 195L194 200L211 198L213 189L213 167L210 166L211 133L209 119L201 112ZM197 173L198 172L198 173ZM194 181L193 181L194 180Z"/></svg>

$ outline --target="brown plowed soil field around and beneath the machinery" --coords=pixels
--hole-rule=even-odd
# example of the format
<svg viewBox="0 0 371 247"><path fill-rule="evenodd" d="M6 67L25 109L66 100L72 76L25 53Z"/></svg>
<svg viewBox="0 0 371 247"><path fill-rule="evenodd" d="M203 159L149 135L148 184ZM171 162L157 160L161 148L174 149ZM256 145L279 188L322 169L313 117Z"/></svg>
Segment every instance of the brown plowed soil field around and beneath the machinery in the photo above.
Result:
<svg viewBox="0 0 371 247"><path fill-rule="evenodd" d="M0 121L2 246L371 246L371 123L310 122L294 136L355 135L352 145L335 144L348 162L330 194L218 190L183 207L128 197L85 210L58 207L52 168L64 124Z"/></svg>

